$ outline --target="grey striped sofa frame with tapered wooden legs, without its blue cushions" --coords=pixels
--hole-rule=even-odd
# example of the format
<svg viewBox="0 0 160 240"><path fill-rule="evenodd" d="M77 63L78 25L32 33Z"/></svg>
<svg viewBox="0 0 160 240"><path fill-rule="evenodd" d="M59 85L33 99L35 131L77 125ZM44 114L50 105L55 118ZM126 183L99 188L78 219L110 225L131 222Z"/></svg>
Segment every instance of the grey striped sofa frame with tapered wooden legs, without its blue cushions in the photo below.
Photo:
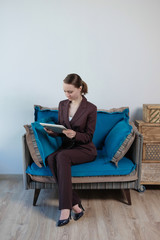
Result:
<svg viewBox="0 0 160 240"><path fill-rule="evenodd" d="M25 189L35 189L33 205L36 205L39 193L41 189L53 189L55 188L55 181L52 177L50 183L33 181L31 177L26 174L28 165L33 162L30 155L27 143L26 135L22 137L23 142L23 182ZM126 156L134 163L136 163L136 169L130 174L125 176L95 176L95 177L72 177L73 189L122 189L124 196L127 200L127 204L131 205L130 189L144 191L143 185L140 184L141 180L141 161L142 161L142 144L143 137L136 131L135 140L127 152Z"/></svg>

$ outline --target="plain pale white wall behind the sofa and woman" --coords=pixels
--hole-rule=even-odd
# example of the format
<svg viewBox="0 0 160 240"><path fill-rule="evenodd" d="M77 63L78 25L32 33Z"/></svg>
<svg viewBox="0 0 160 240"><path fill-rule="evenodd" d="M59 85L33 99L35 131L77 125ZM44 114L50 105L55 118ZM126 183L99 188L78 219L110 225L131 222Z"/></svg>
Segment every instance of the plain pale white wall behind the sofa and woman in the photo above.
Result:
<svg viewBox="0 0 160 240"><path fill-rule="evenodd" d="M159 0L0 0L0 173L22 173L33 105L78 73L98 108L160 103Z"/></svg>

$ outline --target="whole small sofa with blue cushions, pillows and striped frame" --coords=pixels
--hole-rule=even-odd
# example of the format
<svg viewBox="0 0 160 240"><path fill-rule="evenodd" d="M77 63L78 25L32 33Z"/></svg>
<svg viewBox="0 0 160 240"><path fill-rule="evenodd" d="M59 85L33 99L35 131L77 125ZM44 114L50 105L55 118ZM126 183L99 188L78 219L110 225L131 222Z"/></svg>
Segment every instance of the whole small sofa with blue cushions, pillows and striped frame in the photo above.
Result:
<svg viewBox="0 0 160 240"><path fill-rule="evenodd" d="M53 150L49 147L45 152L44 144L40 149L42 130L35 136L34 126L39 126L39 122L56 123L58 110L36 105L34 115L35 122L24 126L26 133L22 141L24 187L35 189L33 205L36 205L40 190L53 189L56 183L44 164L45 154ZM48 146L56 144L57 147L61 142L53 138L47 138L47 141L50 141ZM130 189L144 189L140 184L143 137L134 123L129 122L129 109L98 110L93 142L98 153L95 161L71 167L73 188L122 189L127 203L131 205Z"/></svg>

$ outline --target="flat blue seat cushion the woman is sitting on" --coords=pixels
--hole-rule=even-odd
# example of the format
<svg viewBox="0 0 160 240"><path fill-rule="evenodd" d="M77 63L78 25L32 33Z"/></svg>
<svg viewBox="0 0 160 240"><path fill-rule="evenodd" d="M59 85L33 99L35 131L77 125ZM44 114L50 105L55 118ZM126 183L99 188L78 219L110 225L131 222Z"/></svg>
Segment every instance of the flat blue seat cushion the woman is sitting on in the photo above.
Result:
<svg viewBox="0 0 160 240"><path fill-rule="evenodd" d="M93 162L74 165L71 167L72 177L87 177L87 176L115 176L128 175L135 170L136 164L130 159L123 157L118 164L118 167L110 160L98 154ZM49 167L39 168L35 163L28 166L26 173L36 176L52 176Z"/></svg>

